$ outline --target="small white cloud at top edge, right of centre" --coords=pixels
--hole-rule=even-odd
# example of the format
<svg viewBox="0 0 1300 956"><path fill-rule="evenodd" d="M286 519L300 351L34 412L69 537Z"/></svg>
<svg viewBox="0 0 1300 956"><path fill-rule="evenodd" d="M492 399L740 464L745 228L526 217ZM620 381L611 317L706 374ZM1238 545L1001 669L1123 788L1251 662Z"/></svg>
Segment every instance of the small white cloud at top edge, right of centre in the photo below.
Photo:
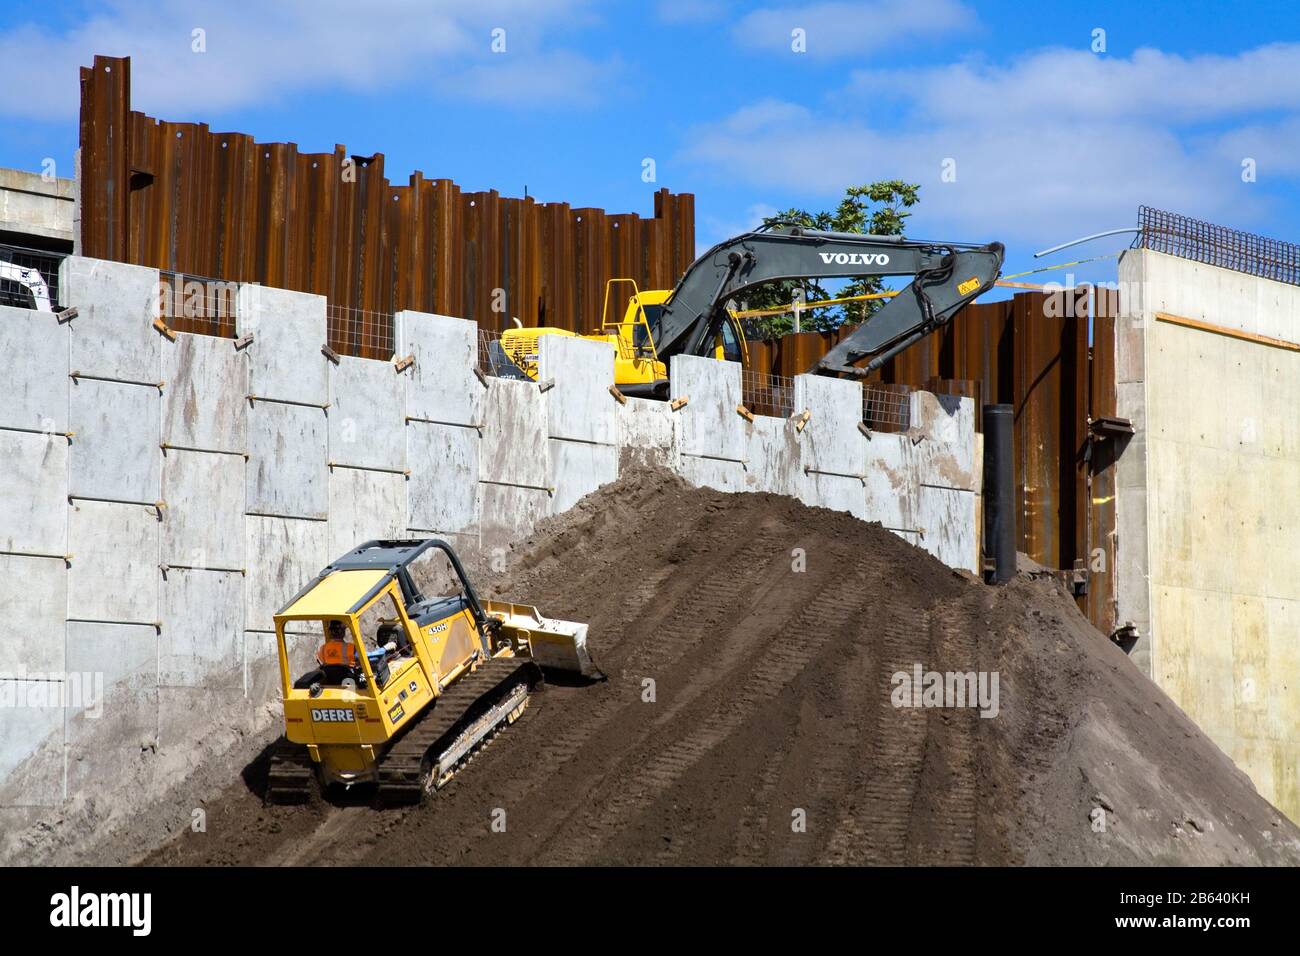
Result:
<svg viewBox="0 0 1300 956"><path fill-rule="evenodd" d="M974 12L959 0L832 1L753 10L736 23L733 35L744 47L788 52L790 33L801 29L809 56L857 56L974 23Z"/></svg>

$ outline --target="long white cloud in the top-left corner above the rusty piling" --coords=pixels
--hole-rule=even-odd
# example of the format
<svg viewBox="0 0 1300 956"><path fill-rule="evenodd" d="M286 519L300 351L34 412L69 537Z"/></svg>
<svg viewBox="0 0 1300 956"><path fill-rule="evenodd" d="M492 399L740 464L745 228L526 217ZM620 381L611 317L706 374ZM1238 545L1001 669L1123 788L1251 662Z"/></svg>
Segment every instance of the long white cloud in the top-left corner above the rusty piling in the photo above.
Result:
<svg viewBox="0 0 1300 956"><path fill-rule="evenodd" d="M536 105L592 99L608 62L550 49L546 35L588 18L585 0L114 0L66 31L0 23L0 113L77 114L78 66L131 57L133 105L172 118L274 101L303 90L384 90L420 81L430 94ZM491 31L506 30L506 52ZM195 29L207 52L191 49ZM510 82L494 78L493 70Z"/></svg>

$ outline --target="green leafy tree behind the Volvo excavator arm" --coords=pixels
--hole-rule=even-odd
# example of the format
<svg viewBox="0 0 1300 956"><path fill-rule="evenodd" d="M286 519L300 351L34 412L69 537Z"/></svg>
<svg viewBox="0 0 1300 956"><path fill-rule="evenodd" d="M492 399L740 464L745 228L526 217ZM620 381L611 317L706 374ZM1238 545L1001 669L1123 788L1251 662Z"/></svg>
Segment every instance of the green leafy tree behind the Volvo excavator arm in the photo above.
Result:
<svg viewBox="0 0 1300 956"><path fill-rule="evenodd" d="M911 213L909 208L916 204L920 186L902 179L883 179L870 186L849 186L844 199L833 211L812 213L807 209L790 208L768 216L763 225L793 222L809 229L824 229L836 233L870 233L872 235L901 235L904 222ZM832 297L820 282L812 280L770 282L745 294L744 308L779 308L789 306L797 293L805 302L845 298L850 295L870 295L883 291L884 286L876 276L855 278ZM823 306L807 310L800 319L803 332L829 332L844 323L862 323L884 304L884 299L846 302L838 306ZM772 315L745 320L750 338L777 338L794 330L794 316Z"/></svg>

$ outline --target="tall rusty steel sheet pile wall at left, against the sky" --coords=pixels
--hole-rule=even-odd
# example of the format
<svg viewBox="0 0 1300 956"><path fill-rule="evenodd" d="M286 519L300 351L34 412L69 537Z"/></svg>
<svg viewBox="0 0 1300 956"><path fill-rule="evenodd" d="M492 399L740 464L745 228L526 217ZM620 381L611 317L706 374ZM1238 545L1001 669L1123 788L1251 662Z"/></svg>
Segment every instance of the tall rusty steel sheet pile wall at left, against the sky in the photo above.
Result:
<svg viewBox="0 0 1300 956"><path fill-rule="evenodd" d="M589 330L607 278L671 287L694 260L690 194L659 190L642 219L463 193L420 172L391 185L382 153L303 153L133 112L129 57L96 56L81 88L81 254L324 295L344 354L387 358L391 316L407 308ZM230 336L234 316L169 324Z"/></svg>

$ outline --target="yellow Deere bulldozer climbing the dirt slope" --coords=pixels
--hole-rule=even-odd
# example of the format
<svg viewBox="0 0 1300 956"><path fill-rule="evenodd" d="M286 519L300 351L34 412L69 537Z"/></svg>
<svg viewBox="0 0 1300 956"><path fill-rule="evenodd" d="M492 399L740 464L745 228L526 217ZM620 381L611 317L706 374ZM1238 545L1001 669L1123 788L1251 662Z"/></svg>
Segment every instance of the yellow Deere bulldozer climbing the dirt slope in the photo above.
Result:
<svg viewBox="0 0 1300 956"><path fill-rule="evenodd" d="M412 568L438 553L456 593L426 597ZM419 803L520 717L543 669L603 676L586 624L480 601L439 538L367 541L274 620L285 736L270 757L273 804L363 783L376 784L386 805Z"/></svg>

